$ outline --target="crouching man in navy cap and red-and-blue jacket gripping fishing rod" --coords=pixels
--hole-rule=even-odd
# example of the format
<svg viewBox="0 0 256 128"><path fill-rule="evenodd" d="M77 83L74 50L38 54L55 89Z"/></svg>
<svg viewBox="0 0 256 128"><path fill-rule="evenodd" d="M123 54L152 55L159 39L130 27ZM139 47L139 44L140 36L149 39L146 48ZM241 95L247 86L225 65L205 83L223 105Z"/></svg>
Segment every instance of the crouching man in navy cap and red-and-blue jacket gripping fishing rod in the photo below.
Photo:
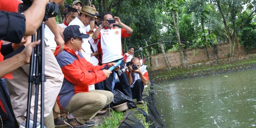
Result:
<svg viewBox="0 0 256 128"><path fill-rule="evenodd" d="M70 114L64 119L64 123L72 128L88 128L93 126L90 121L102 108L113 100L113 93L103 90L88 90L88 86L106 80L111 71L107 70L115 63L93 66L85 60L81 54L82 38L89 35L82 34L77 25L64 29L64 50L55 57L64 74L61 91L57 97L61 109Z"/></svg>

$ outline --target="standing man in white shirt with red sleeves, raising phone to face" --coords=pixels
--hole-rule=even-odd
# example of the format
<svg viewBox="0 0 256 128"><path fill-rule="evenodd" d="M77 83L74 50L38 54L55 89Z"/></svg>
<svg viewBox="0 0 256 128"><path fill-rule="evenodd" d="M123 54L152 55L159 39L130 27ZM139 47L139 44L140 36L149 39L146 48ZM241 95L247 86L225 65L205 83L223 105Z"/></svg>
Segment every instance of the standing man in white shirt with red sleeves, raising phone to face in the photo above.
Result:
<svg viewBox="0 0 256 128"><path fill-rule="evenodd" d="M123 58L122 52L122 44L121 38L130 37L133 30L121 22L119 17L114 17L110 12L106 12L103 15L103 22L101 25L95 30L92 35L92 38L97 41L99 39L101 41L102 50L102 64L110 63L110 62L118 62ZM123 28L115 29L113 24L119 25ZM124 62L120 64L121 68L123 67ZM113 71L112 71L113 72ZM126 76L119 76L120 82L124 82L122 85L125 95L131 96L131 91L129 91L129 85L127 82ZM112 81L114 78L114 73L110 74L110 77L104 81L104 89L107 91L112 91Z"/></svg>

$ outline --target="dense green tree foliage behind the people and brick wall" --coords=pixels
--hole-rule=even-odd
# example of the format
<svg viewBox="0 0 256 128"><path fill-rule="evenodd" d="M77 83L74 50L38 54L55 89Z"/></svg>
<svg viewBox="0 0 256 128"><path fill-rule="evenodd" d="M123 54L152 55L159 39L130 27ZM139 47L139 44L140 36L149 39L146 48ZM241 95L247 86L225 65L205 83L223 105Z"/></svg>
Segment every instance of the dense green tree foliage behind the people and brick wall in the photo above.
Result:
<svg viewBox="0 0 256 128"><path fill-rule="evenodd" d="M161 41L176 41L172 12L179 14L179 29L183 48L207 46L228 41L227 31L217 7L219 1L226 17L230 32L234 32L232 21L236 21L239 43L247 49L256 48L255 10L256 0L91 0L101 15L111 11L123 23L133 29L131 37L126 38L126 46L144 47ZM65 0L72 4L73 0ZM82 0L88 4L88 0ZM242 26L239 25L243 23ZM204 26L202 26L202 24ZM202 29L203 27L203 29ZM165 51L177 50L177 43L165 43ZM125 47L123 47L125 49ZM161 53L159 45L147 47L143 56Z"/></svg>

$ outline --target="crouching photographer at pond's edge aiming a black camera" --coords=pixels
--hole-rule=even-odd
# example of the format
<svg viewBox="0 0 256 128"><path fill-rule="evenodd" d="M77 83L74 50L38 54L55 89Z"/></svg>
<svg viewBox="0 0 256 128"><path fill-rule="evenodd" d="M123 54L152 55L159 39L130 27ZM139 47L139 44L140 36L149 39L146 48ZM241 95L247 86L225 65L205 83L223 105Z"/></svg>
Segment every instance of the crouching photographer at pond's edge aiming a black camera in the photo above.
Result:
<svg viewBox="0 0 256 128"><path fill-rule="evenodd" d="M128 82L132 91L132 98L137 99L138 104L143 104L142 91L148 83L148 72L146 65L141 66L139 59L134 57L128 66Z"/></svg>

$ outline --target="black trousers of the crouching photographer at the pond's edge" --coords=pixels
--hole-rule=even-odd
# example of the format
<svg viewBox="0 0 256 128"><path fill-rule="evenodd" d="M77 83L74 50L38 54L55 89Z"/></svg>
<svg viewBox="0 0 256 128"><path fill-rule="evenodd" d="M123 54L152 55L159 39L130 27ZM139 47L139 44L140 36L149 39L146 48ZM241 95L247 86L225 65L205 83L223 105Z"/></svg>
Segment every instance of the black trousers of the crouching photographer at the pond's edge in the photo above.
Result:
<svg viewBox="0 0 256 128"><path fill-rule="evenodd" d="M142 92L144 90L144 83L141 79L138 79L134 83L134 87L131 88L132 91L132 99L136 99L137 101L142 101Z"/></svg>

